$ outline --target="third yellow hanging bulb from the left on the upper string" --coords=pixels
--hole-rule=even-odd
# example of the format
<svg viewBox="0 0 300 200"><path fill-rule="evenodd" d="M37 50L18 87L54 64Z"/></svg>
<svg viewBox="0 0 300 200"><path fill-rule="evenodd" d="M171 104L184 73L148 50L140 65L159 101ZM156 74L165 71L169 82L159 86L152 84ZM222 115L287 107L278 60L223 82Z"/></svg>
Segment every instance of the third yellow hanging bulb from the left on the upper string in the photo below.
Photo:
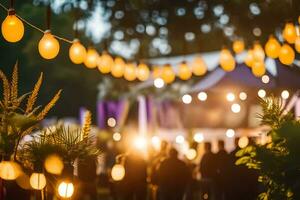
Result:
<svg viewBox="0 0 300 200"><path fill-rule="evenodd" d="M73 44L69 49L70 60L74 64L81 64L86 58L86 49L78 39L74 39Z"/></svg>

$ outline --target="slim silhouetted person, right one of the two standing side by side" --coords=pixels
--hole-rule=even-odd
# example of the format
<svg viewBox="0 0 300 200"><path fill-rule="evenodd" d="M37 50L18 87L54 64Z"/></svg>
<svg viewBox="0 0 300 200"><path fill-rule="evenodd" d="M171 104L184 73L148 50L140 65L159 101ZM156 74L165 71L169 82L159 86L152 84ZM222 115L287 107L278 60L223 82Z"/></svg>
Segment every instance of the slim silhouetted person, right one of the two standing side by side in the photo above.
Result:
<svg viewBox="0 0 300 200"><path fill-rule="evenodd" d="M228 186L230 183L230 155L225 150L225 143L223 140L218 141L219 151L215 155L216 159L216 187L217 187L217 199L227 199Z"/></svg>

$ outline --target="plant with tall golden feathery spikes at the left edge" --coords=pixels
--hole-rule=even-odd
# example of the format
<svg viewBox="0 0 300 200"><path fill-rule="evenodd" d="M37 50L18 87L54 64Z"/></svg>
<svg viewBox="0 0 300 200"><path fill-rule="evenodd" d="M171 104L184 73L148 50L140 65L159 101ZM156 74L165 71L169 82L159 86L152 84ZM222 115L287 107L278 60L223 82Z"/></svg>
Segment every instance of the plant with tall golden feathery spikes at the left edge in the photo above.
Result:
<svg viewBox="0 0 300 200"><path fill-rule="evenodd" d="M6 75L0 70L0 79L3 83L3 96L0 100L0 155L11 157L16 152L20 140L37 127L47 113L58 101L61 90L44 107L36 106L35 103L42 84L43 74L41 73L34 89L30 93L18 95L18 63L13 69L12 78L9 81ZM23 102L27 99L25 106Z"/></svg>

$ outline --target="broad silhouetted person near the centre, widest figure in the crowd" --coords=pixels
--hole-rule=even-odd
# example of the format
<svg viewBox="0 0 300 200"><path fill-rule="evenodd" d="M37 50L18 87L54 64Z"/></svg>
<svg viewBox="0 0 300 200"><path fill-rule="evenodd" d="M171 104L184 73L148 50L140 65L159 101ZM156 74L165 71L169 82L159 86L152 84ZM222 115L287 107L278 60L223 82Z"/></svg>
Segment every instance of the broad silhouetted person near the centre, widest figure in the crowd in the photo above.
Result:
<svg viewBox="0 0 300 200"><path fill-rule="evenodd" d="M176 149L170 149L169 157L161 162L158 170L160 200L182 200L189 180L187 165L178 159Z"/></svg>

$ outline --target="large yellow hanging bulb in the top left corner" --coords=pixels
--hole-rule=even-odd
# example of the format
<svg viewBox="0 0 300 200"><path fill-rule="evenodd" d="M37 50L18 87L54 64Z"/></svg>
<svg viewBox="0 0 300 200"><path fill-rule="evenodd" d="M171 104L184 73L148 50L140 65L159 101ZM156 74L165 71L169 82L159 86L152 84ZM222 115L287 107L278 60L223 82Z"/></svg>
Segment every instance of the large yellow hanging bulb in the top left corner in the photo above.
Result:
<svg viewBox="0 0 300 200"><path fill-rule="evenodd" d="M24 25L16 16L14 9L8 10L8 15L2 22L1 31L3 38L8 42L18 42L23 38Z"/></svg>

